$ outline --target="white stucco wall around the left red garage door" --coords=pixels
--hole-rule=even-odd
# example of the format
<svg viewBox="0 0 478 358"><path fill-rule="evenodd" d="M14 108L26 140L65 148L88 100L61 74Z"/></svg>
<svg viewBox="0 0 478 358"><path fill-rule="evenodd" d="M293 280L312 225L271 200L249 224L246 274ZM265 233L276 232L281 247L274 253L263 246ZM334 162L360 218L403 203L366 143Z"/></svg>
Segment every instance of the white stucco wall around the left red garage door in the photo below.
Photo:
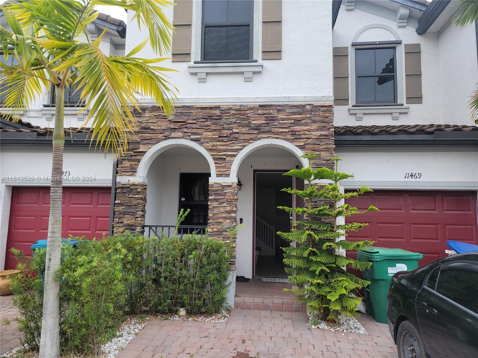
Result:
<svg viewBox="0 0 478 358"><path fill-rule="evenodd" d="M14 186L49 186L52 171L51 147L1 146L0 150L0 268L5 263L11 189ZM65 147L63 170L70 172L64 186L111 187L113 156L87 147ZM21 180L19 177L27 177ZM39 177L39 178L38 178ZM77 179L78 177L78 179ZM83 178L87 177L87 178ZM32 180L33 179L33 180Z"/></svg>

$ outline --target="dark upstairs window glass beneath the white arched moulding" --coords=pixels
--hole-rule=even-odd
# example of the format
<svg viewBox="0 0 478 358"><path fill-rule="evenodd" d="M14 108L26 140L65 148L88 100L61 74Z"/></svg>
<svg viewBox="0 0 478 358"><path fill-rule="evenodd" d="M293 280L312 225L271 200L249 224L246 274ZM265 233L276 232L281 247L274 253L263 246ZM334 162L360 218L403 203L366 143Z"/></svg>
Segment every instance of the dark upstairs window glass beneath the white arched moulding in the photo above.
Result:
<svg viewBox="0 0 478 358"><path fill-rule="evenodd" d="M356 104L397 103L395 47L355 50Z"/></svg>

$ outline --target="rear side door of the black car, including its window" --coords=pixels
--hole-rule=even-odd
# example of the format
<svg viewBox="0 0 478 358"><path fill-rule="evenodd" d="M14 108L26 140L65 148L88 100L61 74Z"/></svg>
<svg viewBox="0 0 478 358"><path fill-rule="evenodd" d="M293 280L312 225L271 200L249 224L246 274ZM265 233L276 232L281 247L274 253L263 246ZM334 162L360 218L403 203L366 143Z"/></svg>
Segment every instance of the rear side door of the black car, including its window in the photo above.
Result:
<svg viewBox="0 0 478 358"><path fill-rule="evenodd" d="M432 358L476 357L478 265L436 268L417 295L416 310Z"/></svg>

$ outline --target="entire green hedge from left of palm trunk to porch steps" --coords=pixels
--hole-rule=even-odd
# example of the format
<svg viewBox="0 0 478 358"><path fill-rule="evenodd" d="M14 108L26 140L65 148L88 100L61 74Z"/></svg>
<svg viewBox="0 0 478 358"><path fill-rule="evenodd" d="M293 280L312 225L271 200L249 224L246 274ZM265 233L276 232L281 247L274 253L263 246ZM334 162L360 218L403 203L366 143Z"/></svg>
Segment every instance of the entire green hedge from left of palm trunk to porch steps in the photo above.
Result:
<svg viewBox="0 0 478 358"><path fill-rule="evenodd" d="M62 353L99 353L126 313L218 312L228 292L228 243L194 235L143 237L126 232L102 240L81 240L62 248L60 346ZM12 249L21 272L12 277L15 320L22 343L37 350L43 310L46 250L33 257ZM37 274L40 273L40 274Z"/></svg>

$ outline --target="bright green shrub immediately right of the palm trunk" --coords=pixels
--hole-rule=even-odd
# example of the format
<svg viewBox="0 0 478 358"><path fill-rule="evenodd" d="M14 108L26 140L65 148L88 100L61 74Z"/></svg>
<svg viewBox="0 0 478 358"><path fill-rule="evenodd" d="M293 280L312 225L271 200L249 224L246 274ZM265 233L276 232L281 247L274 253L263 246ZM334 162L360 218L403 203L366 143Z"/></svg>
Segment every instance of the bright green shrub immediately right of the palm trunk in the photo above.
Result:
<svg viewBox="0 0 478 358"><path fill-rule="evenodd" d="M101 241L65 247L60 277L61 346L65 352L99 353L124 316L128 278L124 253L107 251Z"/></svg>

